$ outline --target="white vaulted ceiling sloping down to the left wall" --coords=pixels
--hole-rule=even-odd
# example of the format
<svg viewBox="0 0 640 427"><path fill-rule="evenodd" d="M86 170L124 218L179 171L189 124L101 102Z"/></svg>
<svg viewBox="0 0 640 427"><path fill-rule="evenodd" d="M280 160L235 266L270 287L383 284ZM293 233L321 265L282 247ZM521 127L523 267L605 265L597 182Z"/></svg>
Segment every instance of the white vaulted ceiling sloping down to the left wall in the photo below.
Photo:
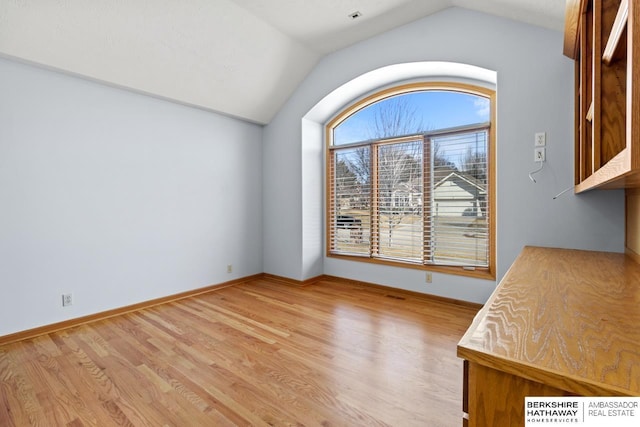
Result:
<svg viewBox="0 0 640 427"><path fill-rule="evenodd" d="M0 55L268 123L322 56L452 6L564 23L562 0L0 0Z"/></svg>

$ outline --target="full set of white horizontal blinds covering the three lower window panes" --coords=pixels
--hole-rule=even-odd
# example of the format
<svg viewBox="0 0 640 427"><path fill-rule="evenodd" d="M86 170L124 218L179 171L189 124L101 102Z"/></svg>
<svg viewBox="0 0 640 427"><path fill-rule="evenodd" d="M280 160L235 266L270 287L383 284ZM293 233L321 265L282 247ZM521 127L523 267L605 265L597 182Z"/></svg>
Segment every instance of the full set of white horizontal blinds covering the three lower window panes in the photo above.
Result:
<svg viewBox="0 0 640 427"><path fill-rule="evenodd" d="M330 252L487 267L488 129L330 147Z"/></svg>

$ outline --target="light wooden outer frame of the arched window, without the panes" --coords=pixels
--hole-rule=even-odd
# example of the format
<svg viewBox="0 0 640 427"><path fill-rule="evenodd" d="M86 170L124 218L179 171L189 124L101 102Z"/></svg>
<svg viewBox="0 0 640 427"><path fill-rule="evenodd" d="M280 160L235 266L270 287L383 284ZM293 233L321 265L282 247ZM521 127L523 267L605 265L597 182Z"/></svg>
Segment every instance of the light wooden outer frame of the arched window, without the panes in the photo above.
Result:
<svg viewBox="0 0 640 427"><path fill-rule="evenodd" d="M333 232L335 232L336 218L332 214L332 189L333 175L331 170L331 151L333 147L333 131L345 120L358 111L368 106L398 95L410 94L422 91L452 91L487 98L490 102L490 121L488 123L488 149L487 149L487 217L488 217L488 263L487 266L449 266L430 263L414 263L392 259L381 259L372 256L354 256L349 254L335 253L332 250ZM399 266L406 268L417 268L433 272L455 274L468 277L476 277L488 280L495 280L496 277L496 91L495 88L485 87L476 84L460 82L418 82L409 83L387 88L358 100L338 112L325 126L326 136L326 255L332 258L346 259L358 262L368 262L374 264Z"/></svg>

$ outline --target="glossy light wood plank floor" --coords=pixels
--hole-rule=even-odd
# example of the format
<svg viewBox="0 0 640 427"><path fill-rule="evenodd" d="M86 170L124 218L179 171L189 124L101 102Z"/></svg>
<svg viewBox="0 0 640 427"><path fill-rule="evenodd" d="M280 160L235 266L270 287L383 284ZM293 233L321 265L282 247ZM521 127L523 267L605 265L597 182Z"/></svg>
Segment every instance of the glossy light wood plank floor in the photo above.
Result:
<svg viewBox="0 0 640 427"><path fill-rule="evenodd" d="M459 426L475 312L253 280L0 347L0 426Z"/></svg>

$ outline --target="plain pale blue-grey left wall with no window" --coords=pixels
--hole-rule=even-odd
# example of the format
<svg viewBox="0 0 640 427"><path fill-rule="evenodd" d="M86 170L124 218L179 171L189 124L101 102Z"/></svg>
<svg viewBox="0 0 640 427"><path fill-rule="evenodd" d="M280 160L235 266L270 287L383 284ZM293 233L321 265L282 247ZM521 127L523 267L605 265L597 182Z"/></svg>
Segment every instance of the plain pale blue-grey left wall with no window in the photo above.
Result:
<svg viewBox="0 0 640 427"><path fill-rule="evenodd" d="M261 144L257 125L0 59L0 335L261 273Z"/></svg>

